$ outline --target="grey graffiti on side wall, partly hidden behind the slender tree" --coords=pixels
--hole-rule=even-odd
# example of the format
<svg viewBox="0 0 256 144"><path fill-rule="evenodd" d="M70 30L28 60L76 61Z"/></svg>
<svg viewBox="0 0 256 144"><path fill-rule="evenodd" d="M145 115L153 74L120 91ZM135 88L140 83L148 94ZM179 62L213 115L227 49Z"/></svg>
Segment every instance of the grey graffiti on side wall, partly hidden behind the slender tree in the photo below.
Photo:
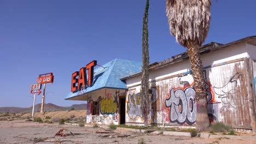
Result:
<svg viewBox="0 0 256 144"><path fill-rule="evenodd" d="M149 89L149 94L151 95L151 105L149 107L149 116L151 119L156 117L156 111L159 111L159 88L152 87ZM127 114L131 119L135 119L137 116L142 117L141 112L141 96L140 93L135 93L134 91L128 94L127 100Z"/></svg>

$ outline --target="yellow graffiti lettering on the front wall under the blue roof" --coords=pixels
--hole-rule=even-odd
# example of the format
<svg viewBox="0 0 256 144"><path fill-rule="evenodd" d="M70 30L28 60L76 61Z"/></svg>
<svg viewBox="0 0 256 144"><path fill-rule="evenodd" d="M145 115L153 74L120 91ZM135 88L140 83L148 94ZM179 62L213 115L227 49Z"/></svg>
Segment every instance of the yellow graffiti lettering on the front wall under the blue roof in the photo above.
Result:
<svg viewBox="0 0 256 144"><path fill-rule="evenodd" d="M117 103L114 102L113 97L101 100L101 113L104 114L114 114L117 111Z"/></svg>

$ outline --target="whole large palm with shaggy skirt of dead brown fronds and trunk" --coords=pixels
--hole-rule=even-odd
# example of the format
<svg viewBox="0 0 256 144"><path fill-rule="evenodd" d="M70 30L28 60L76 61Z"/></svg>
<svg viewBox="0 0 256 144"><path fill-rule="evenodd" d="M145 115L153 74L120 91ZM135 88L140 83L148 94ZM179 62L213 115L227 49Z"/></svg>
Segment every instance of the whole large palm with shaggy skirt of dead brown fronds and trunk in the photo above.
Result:
<svg viewBox="0 0 256 144"><path fill-rule="evenodd" d="M196 129L210 127L207 114L207 93L199 47L207 37L211 19L211 0L166 0L166 16L171 34L187 47L194 78L197 103Z"/></svg>

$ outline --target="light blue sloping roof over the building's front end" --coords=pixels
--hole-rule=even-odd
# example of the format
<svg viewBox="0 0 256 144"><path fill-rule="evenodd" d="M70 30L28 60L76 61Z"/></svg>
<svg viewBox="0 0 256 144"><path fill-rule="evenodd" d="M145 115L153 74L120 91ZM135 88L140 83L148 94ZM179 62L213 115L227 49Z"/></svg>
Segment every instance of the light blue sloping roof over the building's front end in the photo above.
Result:
<svg viewBox="0 0 256 144"><path fill-rule="evenodd" d="M142 63L115 58L94 70L94 85L77 92L70 92L65 99L96 91L101 88L127 89L120 79L141 72Z"/></svg>

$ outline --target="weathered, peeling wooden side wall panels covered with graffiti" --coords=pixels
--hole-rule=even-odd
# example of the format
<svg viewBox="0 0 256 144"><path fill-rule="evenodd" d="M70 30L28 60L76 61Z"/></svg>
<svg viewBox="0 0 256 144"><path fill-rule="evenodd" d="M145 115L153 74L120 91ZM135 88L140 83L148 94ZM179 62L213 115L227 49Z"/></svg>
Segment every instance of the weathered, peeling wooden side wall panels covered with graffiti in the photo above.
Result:
<svg viewBox="0 0 256 144"><path fill-rule="evenodd" d="M208 116L211 122L250 128L248 92L243 59L211 65L204 71L207 85ZM151 83L150 123L195 125L196 103L193 76L180 74ZM126 123L143 123L140 110L140 86L129 88L126 95Z"/></svg>

